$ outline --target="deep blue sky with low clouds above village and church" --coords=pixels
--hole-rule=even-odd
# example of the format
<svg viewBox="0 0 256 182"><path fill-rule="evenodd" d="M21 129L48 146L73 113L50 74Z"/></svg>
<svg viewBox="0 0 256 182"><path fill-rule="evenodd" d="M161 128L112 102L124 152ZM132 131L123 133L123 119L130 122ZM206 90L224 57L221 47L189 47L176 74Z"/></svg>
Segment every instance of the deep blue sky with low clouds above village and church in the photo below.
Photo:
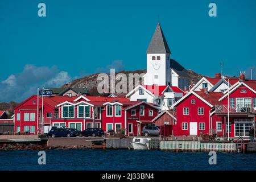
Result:
<svg viewBox="0 0 256 182"><path fill-rule="evenodd" d="M47 17L38 16L40 2ZM210 2L216 18L208 16ZM158 14L171 57L185 68L214 76L223 61L224 75L253 68L255 77L254 0L2 0L0 102L110 67L145 69Z"/></svg>

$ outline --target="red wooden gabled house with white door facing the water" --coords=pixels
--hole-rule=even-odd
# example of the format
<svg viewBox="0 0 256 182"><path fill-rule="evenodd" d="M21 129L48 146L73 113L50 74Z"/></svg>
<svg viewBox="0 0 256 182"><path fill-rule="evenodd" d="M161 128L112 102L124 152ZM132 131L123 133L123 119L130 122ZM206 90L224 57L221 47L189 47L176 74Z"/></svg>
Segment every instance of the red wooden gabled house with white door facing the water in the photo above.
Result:
<svg viewBox="0 0 256 182"><path fill-rule="evenodd" d="M221 92L191 91L177 101L172 106L177 119L174 135L199 136L216 129L221 117L215 114L214 106L219 103L221 96Z"/></svg>

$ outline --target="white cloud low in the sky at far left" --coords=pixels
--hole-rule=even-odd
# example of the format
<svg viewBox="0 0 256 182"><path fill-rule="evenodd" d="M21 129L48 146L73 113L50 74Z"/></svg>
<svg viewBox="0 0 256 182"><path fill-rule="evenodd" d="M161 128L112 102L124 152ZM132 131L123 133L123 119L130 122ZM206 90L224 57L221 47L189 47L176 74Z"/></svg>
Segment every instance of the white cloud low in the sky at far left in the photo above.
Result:
<svg viewBox="0 0 256 182"><path fill-rule="evenodd" d="M55 66L36 67L26 64L22 72L0 80L0 102L20 102L36 94L38 87L59 87L72 79L68 72L59 71Z"/></svg>

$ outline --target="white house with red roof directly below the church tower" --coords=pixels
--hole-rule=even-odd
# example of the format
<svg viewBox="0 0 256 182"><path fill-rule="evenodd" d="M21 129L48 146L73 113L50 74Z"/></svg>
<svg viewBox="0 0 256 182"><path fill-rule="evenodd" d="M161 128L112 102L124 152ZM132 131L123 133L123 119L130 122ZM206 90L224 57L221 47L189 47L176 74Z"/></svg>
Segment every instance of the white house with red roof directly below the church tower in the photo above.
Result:
<svg viewBox="0 0 256 182"><path fill-rule="evenodd" d="M184 94L177 86L138 85L126 97L131 101L146 101L156 104L161 110L169 110Z"/></svg>

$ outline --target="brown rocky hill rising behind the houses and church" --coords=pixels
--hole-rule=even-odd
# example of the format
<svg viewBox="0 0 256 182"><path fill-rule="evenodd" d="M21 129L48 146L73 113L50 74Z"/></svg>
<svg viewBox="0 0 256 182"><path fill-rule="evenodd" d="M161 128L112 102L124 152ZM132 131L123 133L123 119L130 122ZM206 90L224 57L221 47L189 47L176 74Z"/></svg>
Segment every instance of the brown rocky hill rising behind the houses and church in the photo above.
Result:
<svg viewBox="0 0 256 182"><path fill-rule="evenodd" d="M139 69L139 70L136 70L136 71L121 71L121 72L115 73L115 75L117 75L118 73L125 73L127 78L128 78L129 73L138 73L138 74L146 73L146 69ZM199 81L203 77L203 75L201 75L199 73L196 73L196 72L193 72L191 69L188 69L187 73L189 75L190 84ZM89 90L88 94L90 94L90 95L107 96L108 94L98 94L98 92L97 92L97 85L98 85L98 82L99 82L97 80L98 74L99 73L94 73L92 75L88 75L88 76L85 76L85 77L82 77L82 78L78 78L76 80L68 82L68 86L71 86L72 88L73 87L87 88ZM107 74L110 77L110 73L107 73ZM109 78L109 80L110 80L110 78ZM127 88L129 88L129 84L127 85Z"/></svg>

